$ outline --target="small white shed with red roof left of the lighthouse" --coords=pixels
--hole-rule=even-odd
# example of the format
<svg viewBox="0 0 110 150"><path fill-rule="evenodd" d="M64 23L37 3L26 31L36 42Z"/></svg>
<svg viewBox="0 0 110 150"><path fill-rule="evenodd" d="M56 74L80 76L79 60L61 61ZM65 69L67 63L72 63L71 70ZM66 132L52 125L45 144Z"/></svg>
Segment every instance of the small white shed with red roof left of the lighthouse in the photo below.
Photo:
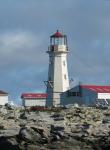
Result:
<svg viewBox="0 0 110 150"><path fill-rule="evenodd" d="M21 95L24 107L45 106L47 94L45 93L23 93Z"/></svg>

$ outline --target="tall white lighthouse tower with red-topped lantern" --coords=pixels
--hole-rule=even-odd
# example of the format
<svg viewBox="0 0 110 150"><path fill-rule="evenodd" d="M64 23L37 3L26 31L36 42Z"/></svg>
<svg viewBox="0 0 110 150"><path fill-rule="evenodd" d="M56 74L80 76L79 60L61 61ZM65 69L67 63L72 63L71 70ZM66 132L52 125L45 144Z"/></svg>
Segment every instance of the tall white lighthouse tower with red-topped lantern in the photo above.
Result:
<svg viewBox="0 0 110 150"><path fill-rule="evenodd" d="M67 69L67 36L58 30L50 36L49 70L47 81L47 106L59 106L61 93L69 89Z"/></svg>

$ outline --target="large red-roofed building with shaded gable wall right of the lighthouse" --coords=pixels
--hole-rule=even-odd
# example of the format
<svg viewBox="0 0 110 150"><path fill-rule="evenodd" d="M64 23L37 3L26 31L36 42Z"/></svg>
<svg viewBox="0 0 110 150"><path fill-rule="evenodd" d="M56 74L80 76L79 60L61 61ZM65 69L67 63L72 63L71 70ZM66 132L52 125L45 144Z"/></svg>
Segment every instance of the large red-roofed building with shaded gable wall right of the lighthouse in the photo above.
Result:
<svg viewBox="0 0 110 150"><path fill-rule="evenodd" d="M110 86L79 85L61 96L61 105L94 105L97 101L110 105Z"/></svg>

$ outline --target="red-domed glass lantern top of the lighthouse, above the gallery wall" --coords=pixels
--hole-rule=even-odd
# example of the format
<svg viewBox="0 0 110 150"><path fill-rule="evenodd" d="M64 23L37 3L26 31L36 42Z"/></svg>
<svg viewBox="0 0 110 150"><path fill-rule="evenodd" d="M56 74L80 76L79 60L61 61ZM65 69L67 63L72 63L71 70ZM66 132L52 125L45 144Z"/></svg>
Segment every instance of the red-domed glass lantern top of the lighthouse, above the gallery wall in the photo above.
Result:
<svg viewBox="0 0 110 150"><path fill-rule="evenodd" d="M58 30L50 36L50 45L67 45L67 37Z"/></svg>

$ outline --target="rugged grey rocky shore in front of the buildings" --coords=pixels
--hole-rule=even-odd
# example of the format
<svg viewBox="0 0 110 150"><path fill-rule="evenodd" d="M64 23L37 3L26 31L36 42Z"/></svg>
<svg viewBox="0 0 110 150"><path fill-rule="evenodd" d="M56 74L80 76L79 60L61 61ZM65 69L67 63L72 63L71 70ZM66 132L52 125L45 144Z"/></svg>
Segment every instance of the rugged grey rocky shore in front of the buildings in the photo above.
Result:
<svg viewBox="0 0 110 150"><path fill-rule="evenodd" d="M0 107L0 150L108 150L110 108Z"/></svg>

